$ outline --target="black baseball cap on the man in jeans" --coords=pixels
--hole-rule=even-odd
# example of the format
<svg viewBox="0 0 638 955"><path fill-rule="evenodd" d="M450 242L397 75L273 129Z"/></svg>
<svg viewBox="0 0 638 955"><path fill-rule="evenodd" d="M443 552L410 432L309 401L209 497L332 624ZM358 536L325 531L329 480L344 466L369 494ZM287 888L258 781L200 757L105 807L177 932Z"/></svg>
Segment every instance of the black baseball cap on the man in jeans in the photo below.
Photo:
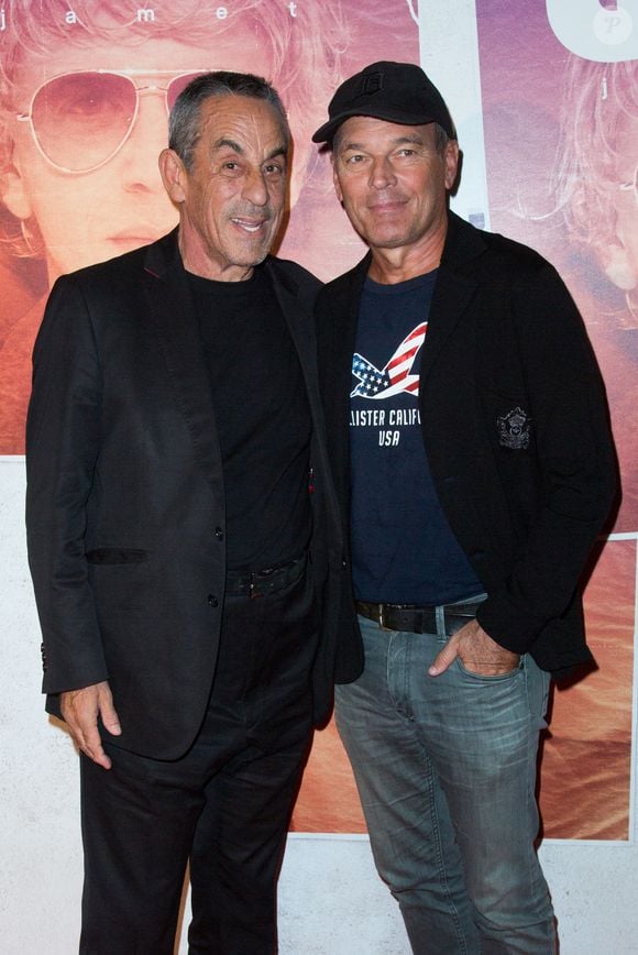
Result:
<svg viewBox="0 0 638 955"><path fill-rule="evenodd" d="M443 97L414 63L381 61L366 66L341 84L330 100L328 116L312 142L331 143L338 128L351 116L370 116L408 127L437 122L450 139L457 139Z"/></svg>

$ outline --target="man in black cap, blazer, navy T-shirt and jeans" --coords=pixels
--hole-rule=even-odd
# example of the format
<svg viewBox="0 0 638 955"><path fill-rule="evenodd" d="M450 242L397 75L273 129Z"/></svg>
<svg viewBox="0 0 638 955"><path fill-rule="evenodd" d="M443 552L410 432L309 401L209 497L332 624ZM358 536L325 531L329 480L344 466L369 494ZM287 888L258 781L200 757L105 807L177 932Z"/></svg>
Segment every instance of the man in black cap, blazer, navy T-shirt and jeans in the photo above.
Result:
<svg viewBox="0 0 638 955"><path fill-rule="evenodd" d="M419 955L549 953L538 738L550 673L591 660L578 583L615 491L596 363L549 263L448 211L459 146L419 67L348 79L315 140L370 246L317 327L375 861Z"/></svg>

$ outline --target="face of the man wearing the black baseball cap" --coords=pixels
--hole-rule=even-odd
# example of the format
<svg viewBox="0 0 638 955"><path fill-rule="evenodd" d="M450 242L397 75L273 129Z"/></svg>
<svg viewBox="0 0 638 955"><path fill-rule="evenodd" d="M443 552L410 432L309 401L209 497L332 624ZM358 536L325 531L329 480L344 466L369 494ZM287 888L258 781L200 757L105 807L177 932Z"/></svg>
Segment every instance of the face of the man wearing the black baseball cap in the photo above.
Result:
<svg viewBox="0 0 638 955"><path fill-rule="evenodd" d="M375 261L407 257L414 274L438 264L458 157L453 141L437 150L433 123L352 117L341 125L333 153L337 196Z"/></svg>

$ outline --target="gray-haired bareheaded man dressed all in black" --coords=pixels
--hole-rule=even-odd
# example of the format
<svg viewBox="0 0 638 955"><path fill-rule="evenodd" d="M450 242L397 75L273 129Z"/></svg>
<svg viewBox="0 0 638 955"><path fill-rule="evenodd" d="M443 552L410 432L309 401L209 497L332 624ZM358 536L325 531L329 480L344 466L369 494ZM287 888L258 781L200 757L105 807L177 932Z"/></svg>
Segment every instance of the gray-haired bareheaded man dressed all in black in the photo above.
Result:
<svg viewBox="0 0 638 955"><path fill-rule="evenodd" d="M319 283L267 254L288 153L264 80L195 79L160 157L178 230L58 279L35 347L29 553L81 750L82 953L172 953L187 860L190 952L276 944L343 574Z"/></svg>

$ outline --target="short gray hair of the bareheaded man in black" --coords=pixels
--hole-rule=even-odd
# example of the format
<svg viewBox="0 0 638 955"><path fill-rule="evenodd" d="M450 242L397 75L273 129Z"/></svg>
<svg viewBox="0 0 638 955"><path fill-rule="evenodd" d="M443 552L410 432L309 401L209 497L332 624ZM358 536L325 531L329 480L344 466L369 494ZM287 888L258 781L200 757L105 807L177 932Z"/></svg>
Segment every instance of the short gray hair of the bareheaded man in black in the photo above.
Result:
<svg viewBox="0 0 638 955"><path fill-rule="evenodd" d="M244 96L268 102L279 118L288 149L288 118L278 92L270 83L252 73L230 73L224 69L202 73L182 90L168 118L168 146L177 153L187 169L193 166L193 154L200 135L201 106L213 96Z"/></svg>

